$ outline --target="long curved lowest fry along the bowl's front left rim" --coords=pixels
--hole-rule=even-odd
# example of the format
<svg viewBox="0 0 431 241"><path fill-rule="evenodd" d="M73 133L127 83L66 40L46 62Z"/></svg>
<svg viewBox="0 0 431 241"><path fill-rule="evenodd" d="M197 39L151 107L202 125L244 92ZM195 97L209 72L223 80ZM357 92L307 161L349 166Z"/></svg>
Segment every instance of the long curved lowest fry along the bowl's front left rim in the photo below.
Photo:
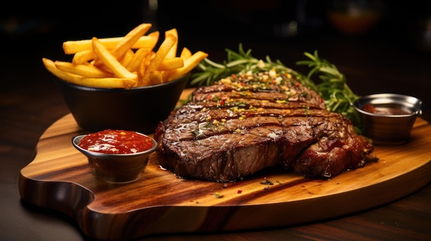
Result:
<svg viewBox="0 0 431 241"><path fill-rule="evenodd" d="M67 82L74 84L80 84L87 87L96 88L126 88L130 89L136 84L136 80L129 80L124 78L85 78L78 76L74 73L69 73L57 69L54 61L48 58L42 58L43 65L48 69L54 76Z"/></svg>

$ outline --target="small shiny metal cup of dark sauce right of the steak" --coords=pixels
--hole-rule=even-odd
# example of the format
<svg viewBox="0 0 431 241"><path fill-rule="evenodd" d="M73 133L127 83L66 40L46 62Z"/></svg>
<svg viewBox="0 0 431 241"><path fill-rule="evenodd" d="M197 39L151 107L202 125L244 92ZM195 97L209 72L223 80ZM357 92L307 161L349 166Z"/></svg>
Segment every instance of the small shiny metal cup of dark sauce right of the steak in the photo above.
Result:
<svg viewBox="0 0 431 241"><path fill-rule="evenodd" d="M401 109L403 114L370 113L364 106ZM395 93L366 95L353 103L364 118L364 135L377 145L401 145L410 139L416 117L422 114L422 102L416 97Z"/></svg>

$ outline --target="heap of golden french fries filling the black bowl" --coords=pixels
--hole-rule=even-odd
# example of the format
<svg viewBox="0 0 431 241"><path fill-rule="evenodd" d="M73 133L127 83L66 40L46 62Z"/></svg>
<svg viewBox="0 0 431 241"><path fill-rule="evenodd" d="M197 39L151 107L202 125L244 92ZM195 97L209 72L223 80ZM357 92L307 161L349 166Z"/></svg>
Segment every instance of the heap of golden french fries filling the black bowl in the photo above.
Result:
<svg viewBox="0 0 431 241"><path fill-rule="evenodd" d="M178 32L165 32L165 39L156 50L160 32L147 34L151 23L135 27L124 37L65 41L65 54L74 54L72 62L42 58L43 65L54 76L87 87L142 87L176 80L185 76L208 54L192 54L183 47L178 50Z"/></svg>

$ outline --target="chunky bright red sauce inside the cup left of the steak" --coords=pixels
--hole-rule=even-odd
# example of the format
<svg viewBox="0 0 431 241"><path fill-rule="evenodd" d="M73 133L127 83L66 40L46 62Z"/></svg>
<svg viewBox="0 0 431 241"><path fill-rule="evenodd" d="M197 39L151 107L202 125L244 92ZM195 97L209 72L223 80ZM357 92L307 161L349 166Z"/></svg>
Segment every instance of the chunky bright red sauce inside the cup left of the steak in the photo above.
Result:
<svg viewBox="0 0 431 241"><path fill-rule="evenodd" d="M85 136L78 146L92 152L107 154L130 154L153 147L153 141L134 131L102 130Z"/></svg>

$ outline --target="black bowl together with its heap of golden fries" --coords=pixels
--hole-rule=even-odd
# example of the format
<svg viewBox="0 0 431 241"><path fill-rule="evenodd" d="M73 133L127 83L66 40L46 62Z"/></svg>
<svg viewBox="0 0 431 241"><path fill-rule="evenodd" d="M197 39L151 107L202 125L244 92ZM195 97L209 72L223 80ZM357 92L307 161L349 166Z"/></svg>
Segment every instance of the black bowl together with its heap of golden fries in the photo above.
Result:
<svg viewBox="0 0 431 241"><path fill-rule="evenodd" d="M190 71L208 54L178 52L178 32L147 34L151 23L123 37L65 41L70 62L42 58L78 126L84 130L127 129L153 133L174 110Z"/></svg>

